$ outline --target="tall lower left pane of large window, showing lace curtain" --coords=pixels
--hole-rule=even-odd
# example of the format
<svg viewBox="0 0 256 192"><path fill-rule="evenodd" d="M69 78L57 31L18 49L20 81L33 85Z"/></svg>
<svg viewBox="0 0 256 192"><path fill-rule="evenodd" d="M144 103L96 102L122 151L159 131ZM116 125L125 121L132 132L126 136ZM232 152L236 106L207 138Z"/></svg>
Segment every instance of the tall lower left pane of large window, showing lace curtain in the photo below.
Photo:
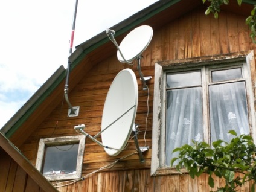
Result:
<svg viewBox="0 0 256 192"><path fill-rule="evenodd" d="M203 140L202 88L167 91L165 165L178 155L176 147Z"/></svg>

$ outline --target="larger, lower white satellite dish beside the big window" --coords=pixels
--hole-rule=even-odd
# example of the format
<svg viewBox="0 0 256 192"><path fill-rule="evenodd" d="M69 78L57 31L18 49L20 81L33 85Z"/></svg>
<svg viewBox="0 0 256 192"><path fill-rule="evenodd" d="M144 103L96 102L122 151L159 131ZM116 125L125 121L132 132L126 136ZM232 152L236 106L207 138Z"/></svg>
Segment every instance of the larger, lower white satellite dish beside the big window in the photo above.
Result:
<svg viewBox="0 0 256 192"><path fill-rule="evenodd" d="M101 120L101 139L110 156L118 155L132 132L138 105L138 84L132 69L123 69L107 92ZM106 129L107 128L107 129ZM106 129L106 130L104 130Z"/></svg>

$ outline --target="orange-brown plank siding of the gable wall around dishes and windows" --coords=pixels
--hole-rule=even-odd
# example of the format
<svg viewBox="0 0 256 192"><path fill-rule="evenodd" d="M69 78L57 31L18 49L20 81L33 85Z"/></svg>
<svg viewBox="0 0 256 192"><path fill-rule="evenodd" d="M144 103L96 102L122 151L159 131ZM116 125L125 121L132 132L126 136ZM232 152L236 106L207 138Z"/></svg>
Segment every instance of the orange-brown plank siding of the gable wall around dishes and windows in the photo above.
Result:
<svg viewBox="0 0 256 192"><path fill-rule="evenodd" d="M141 60L144 76L152 76L149 86L149 114L147 116L147 91L142 83L136 64L126 65L117 61L116 55L94 65L84 78L74 86L69 94L72 106L80 106L78 117L67 117L68 105L61 99L58 106L45 118L42 124L20 147L22 153L35 165L40 138L77 135L74 126L86 125L86 132L95 135L101 130L101 116L107 91L115 75L124 68L135 71L138 81L139 100L135 123L139 124L138 141L140 146L149 146L144 152L145 163L139 162L139 156L133 154L136 147L133 140L118 156L111 157L104 149L90 139L86 139L83 158L83 176L92 173L123 156L112 168L91 174L83 181L58 188L59 191L211 191L223 184L222 179L214 178L214 189L208 187L208 177L202 174L191 179L188 174L150 176L153 88L155 63L163 60L186 59L190 57L210 56L237 51L254 50L255 45L249 37L249 28L245 25L245 16L222 11L219 19L205 16L205 7L196 8L174 21L154 30L152 42L144 51ZM114 48L114 47L113 47ZM115 51L116 53L116 51ZM100 57L100 56L99 56ZM88 59L88 63L90 61ZM88 66L85 65L85 68ZM254 71L255 72L255 71ZM147 118L147 122L146 122ZM146 124L147 123L147 124ZM146 132L146 133L145 133ZM144 140L145 133L145 140ZM100 139L100 137L99 137ZM15 167L13 167L15 168ZM71 190L72 189L72 190ZM249 185L240 191L250 191Z"/></svg>

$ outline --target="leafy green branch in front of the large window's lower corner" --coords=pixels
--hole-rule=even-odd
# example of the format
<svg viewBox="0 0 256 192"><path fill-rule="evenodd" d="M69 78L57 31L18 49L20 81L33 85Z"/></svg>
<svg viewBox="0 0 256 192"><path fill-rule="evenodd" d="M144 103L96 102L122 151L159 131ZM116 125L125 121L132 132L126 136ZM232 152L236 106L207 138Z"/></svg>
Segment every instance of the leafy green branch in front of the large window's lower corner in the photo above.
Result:
<svg viewBox="0 0 256 192"><path fill-rule="evenodd" d="M235 136L230 143L218 140L210 146L206 142L193 141L193 146L185 144L174 149L173 152L179 152L179 155L171 159L171 167L178 161L175 168L181 173L181 168L185 167L191 178L207 173L210 187L214 187L213 174L224 178L225 186L219 187L219 192L235 191L249 181L254 181L255 184L256 146L252 137L237 136L234 130L229 133ZM240 173L243 177L235 176L235 173ZM254 184L251 191L254 191Z"/></svg>

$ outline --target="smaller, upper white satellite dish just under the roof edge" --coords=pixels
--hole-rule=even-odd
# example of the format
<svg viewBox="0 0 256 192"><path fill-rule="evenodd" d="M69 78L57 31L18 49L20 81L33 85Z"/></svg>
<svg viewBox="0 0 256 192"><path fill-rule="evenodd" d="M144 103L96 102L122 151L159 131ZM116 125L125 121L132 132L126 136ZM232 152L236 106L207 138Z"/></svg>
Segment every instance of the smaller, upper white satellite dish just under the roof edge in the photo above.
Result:
<svg viewBox="0 0 256 192"><path fill-rule="evenodd" d="M122 63L125 63L126 61L132 62L133 59L136 59L144 50L146 50L152 36L153 29L149 25L141 25L130 31L119 45L119 49L124 58L118 50L117 59Z"/></svg>

